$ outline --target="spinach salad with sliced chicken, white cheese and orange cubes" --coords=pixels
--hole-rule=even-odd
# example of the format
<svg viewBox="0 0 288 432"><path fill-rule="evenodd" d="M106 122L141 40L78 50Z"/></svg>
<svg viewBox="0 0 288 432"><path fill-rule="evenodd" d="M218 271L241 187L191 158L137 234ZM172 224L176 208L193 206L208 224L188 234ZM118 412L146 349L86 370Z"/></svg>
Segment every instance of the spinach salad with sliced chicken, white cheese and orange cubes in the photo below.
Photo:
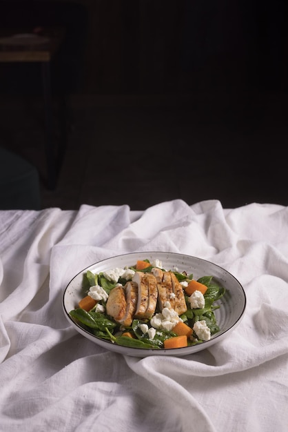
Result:
<svg viewBox="0 0 288 432"><path fill-rule="evenodd" d="M169 349L209 340L220 328L215 304L225 295L212 275L194 279L156 259L110 271L87 271L72 320L96 337L122 346Z"/></svg>

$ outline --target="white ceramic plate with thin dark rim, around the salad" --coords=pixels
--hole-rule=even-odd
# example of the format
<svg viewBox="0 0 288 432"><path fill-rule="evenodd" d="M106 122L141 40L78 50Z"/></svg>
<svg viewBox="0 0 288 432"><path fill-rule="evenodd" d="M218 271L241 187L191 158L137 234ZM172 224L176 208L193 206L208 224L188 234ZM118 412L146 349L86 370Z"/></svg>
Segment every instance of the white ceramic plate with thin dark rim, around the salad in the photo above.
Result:
<svg viewBox="0 0 288 432"><path fill-rule="evenodd" d="M100 273L103 271L110 270L112 268L125 266L133 266L136 264L137 259L149 259L150 262L154 262L155 259L159 259L162 262L163 268L166 270L173 270L174 267L178 268L178 271L187 271L188 274L193 273L194 279L198 279L202 276L214 276L218 284L224 286L226 289L225 295L216 302L220 304L220 308L216 309L215 315L217 324L220 327L220 331L213 335L212 338L206 342L202 342L197 345L187 346L185 348L171 348L171 349L143 349L143 348L131 348L126 346L120 346L101 340L99 337L92 335L88 331L85 331L79 324L76 324L69 313L75 308L78 308L78 302L83 298L83 276L90 270L94 273ZM243 318L243 314L246 307L246 295L243 287L238 280L224 268L213 264L212 262L200 259L198 257L192 257L189 255L182 255L180 253L165 253L165 252L136 252L128 253L125 255L119 255L116 257L104 259L103 261L96 262L87 268L84 268L78 275L74 276L68 286L65 288L63 294L63 311L66 318L72 326L79 331L81 335L87 337L89 340L103 346L110 351L116 351L123 355L132 355L134 357L147 357L149 355L174 355L181 357L201 351L205 348L209 348L216 342L220 342L224 337L229 335Z"/></svg>

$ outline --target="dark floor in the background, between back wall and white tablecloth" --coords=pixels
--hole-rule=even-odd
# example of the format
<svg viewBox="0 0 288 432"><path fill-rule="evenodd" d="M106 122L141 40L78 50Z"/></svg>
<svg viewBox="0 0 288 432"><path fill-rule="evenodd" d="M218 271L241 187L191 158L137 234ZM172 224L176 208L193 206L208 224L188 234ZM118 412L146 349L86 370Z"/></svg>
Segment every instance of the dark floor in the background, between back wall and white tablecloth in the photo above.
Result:
<svg viewBox="0 0 288 432"><path fill-rule="evenodd" d="M2 141L45 177L39 101L1 104ZM40 108L39 108L40 107ZM287 95L72 97L72 130L55 190L42 207L170 199L288 205ZM59 136L55 136L59 140Z"/></svg>

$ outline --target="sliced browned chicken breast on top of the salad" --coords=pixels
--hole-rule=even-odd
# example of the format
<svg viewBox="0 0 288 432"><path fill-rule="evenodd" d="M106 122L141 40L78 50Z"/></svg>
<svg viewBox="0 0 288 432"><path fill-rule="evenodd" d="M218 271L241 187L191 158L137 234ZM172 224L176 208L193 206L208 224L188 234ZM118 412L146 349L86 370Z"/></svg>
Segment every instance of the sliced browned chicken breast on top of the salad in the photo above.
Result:
<svg viewBox="0 0 288 432"><path fill-rule="evenodd" d="M134 318L150 320L157 307L162 311L165 302L169 302L178 315L187 311L183 288L174 273L153 268L152 273L136 271L132 281L113 288L106 311L116 322L127 327Z"/></svg>

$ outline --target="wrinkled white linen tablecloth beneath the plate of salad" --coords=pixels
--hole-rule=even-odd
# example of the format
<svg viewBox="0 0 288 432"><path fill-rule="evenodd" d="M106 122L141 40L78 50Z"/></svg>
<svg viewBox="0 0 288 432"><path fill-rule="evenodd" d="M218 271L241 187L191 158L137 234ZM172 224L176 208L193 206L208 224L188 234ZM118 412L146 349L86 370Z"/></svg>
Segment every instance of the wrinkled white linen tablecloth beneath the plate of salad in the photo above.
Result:
<svg viewBox="0 0 288 432"><path fill-rule="evenodd" d="M0 212L0 431L288 430L288 208L217 200ZM70 326L72 277L123 253L207 259L242 284L240 325L185 357L123 356Z"/></svg>

